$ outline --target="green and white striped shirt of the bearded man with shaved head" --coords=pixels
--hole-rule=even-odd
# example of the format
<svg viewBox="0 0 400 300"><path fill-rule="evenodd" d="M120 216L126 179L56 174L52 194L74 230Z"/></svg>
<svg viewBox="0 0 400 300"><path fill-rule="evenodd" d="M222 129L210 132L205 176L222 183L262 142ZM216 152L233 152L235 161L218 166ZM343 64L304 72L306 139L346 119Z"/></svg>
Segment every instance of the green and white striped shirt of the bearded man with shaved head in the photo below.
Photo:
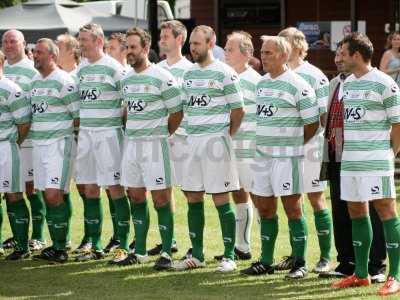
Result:
<svg viewBox="0 0 400 300"><path fill-rule="evenodd" d="M228 134L231 110L244 107L239 76L219 60L194 64L183 75L183 91L189 135Z"/></svg>

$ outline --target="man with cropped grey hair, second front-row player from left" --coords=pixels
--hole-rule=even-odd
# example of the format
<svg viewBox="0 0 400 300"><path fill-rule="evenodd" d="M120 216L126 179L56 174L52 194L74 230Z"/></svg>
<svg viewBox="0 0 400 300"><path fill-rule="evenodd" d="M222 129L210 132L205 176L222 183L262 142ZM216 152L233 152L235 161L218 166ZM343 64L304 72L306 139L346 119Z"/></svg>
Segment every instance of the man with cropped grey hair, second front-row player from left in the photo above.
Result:
<svg viewBox="0 0 400 300"><path fill-rule="evenodd" d="M34 258L64 263L71 209L69 184L75 157L74 128L79 127L79 93L70 74L57 67L58 47L40 39L33 53L40 74L32 79L31 137L35 189L44 193L46 220L53 245Z"/></svg>

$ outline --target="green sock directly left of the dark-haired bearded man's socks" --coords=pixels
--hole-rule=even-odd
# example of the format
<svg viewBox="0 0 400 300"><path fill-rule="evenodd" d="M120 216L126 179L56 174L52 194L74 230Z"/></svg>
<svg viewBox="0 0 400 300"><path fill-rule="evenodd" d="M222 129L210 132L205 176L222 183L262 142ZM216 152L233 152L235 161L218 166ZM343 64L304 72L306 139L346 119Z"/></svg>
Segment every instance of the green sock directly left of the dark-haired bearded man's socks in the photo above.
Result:
<svg viewBox="0 0 400 300"><path fill-rule="evenodd" d="M129 250L129 226L130 226L130 211L128 198L122 197L111 201L115 208L115 222L117 227L117 240L120 241L120 248ZM111 210L111 206L110 206ZM114 223L114 219L113 219ZM115 226L115 225L114 225ZM115 228L114 228L115 234Z"/></svg>

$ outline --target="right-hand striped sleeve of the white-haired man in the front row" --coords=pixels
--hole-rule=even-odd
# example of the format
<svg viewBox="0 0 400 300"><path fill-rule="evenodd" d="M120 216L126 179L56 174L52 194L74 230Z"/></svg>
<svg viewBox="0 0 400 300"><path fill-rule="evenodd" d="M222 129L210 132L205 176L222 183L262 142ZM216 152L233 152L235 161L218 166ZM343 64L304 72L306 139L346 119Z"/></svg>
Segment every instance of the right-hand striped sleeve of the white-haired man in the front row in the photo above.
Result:
<svg viewBox="0 0 400 300"><path fill-rule="evenodd" d="M302 85L297 91L297 109L304 125L319 121L319 108L314 89L309 85Z"/></svg>

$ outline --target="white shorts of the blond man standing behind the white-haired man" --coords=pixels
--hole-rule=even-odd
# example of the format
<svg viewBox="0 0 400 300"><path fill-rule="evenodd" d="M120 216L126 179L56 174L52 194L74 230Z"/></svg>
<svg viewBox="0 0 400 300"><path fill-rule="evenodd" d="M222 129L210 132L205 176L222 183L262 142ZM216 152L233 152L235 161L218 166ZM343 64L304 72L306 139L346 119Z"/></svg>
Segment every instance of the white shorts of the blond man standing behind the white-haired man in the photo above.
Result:
<svg viewBox="0 0 400 300"><path fill-rule="evenodd" d="M323 142L323 131L320 131L304 145L304 193L323 192L326 189L326 181L319 180Z"/></svg>

